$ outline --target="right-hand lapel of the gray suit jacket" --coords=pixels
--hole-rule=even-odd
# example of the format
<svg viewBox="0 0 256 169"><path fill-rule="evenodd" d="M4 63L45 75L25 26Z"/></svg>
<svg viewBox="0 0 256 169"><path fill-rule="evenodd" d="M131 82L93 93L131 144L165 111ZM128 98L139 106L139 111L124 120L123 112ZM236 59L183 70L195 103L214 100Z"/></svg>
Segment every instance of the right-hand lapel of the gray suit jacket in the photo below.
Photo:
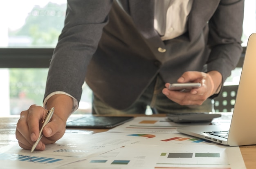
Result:
<svg viewBox="0 0 256 169"><path fill-rule="evenodd" d="M219 2L220 0L193 0L188 23L190 40L199 36L218 7Z"/></svg>

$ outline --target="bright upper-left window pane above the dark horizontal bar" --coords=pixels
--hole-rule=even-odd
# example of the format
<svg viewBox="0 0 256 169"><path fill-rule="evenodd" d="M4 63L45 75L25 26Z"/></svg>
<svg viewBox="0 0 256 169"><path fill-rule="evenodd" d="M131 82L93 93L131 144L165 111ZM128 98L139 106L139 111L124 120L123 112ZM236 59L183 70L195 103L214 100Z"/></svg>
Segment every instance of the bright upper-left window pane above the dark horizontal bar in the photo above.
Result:
<svg viewBox="0 0 256 169"><path fill-rule="evenodd" d="M0 47L55 47L65 10L65 0L6 1L0 10Z"/></svg>

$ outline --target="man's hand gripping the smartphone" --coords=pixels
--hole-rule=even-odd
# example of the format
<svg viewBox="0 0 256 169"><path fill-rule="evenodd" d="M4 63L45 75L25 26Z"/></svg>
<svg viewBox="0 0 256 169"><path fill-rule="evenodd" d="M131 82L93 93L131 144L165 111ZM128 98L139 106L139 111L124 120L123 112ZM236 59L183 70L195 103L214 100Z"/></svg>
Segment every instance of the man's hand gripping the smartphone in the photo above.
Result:
<svg viewBox="0 0 256 169"><path fill-rule="evenodd" d="M166 83L163 89L164 95L180 105L202 105L211 95L216 93L222 83L222 75L218 71L208 73L199 71L187 71L177 80L179 83L199 82L201 87L194 88L190 92L170 91L170 83Z"/></svg>

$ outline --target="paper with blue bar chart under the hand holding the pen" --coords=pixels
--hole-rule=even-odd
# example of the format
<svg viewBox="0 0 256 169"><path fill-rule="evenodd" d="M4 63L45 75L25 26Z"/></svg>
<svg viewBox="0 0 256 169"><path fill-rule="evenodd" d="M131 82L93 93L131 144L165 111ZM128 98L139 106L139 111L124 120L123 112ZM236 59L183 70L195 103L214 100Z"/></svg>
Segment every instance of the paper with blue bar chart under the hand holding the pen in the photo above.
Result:
<svg viewBox="0 0 256 169"><path fill-rule="evenodd" d="M98 156L145 138L105 133L65 133L45 151L25 150L18 143L0 148L0 164L8 169L52 169L76 161ZM1 168L1 167L0 167Z"/></svg>

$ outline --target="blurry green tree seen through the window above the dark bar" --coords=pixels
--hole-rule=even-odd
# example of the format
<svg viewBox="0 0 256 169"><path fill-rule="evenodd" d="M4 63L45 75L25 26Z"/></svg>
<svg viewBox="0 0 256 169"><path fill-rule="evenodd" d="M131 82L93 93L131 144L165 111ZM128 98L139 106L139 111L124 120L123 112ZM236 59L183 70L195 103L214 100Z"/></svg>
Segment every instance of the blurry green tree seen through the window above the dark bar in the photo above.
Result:
<svg viewBox="0 0 256 169"><path fill-rule="evenodd" d="M64 26L66 4L49 2L45 7L35 6L25 24L13 36L31 38L32 47L54 47Z"/></svg>

